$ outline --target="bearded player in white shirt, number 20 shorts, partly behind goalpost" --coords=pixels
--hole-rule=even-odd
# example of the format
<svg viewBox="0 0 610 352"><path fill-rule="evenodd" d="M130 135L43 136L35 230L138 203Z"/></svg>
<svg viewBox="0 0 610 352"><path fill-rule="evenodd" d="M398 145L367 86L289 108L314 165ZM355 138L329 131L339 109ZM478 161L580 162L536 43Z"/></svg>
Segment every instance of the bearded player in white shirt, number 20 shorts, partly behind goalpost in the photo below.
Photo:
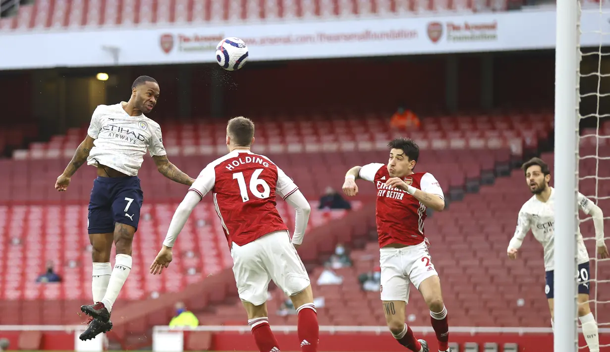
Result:
<svg viewBox="0 0 610 352"><path fill-rule="evenodd" d="M517 258L517 252L529 230L544 247L544 269L547 271L545 293L547 293L548 307L551 310L551 325L553 324L553 251L555 242L555 190L548 185L551 172L547 163L537 157L530 159L522 166L525 172L525 182L529 190L534 193L532 198L523 204L517 218L517 229L508 245L508 256ZM595 240L597 254L602 259L608 257L608 248L604 243L604 214L600 207L595 205L586 196L578 193L578 206L587 215L593 217L595 226ZM589 253L584 246L583 235L578 226L578 316L583 325L584 339L590 352L600 351L600 340L597 335L597 323L589 307Z"/></svg>

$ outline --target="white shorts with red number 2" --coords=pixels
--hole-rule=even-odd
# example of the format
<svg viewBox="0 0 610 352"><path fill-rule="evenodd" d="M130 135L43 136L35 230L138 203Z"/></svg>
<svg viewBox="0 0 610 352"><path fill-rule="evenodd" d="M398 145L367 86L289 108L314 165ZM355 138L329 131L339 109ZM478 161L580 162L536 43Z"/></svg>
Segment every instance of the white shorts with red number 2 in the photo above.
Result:
<svg viewBox="0 0 610 352"><path fill-rule="evenodd" d="M422 242L404 248L380 248L381 300L409 302L409 283L419 289L422 281L439 275L432 265L428 246Z"/></svg>

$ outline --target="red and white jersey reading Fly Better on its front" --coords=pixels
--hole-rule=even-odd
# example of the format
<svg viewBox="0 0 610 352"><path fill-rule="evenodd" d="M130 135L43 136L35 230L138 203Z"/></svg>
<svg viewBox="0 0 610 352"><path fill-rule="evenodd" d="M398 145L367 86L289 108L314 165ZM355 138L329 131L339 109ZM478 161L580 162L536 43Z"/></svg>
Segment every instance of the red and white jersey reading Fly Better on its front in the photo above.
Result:
<svg viewBox="0 0 610 352"><path fill-rule="evenodd" d="M426 206L414 196L400 189L389 189L387 179L391 178L386 165L370 163L360 169L360 178L375 182L377 186L376 220L379 247L392 243L418 245L426 237L423 223L426 220ZM423 192L432 193L445 199L439 181L431 173L413 173L404 178L407 184Z"/></svg>

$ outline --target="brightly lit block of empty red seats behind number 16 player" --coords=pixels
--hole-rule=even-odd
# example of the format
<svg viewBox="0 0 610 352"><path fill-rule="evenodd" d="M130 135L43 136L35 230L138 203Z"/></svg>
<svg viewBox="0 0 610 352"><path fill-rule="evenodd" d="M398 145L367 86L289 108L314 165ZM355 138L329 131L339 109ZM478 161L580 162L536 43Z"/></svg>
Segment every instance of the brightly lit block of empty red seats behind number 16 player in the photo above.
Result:
<svg viewBox="0 0 610 352"><path fill-rule="evenodd" d="M346 214L346 210L317 209L311 201L310 228ZM193 211L174 247L177 260L163 276L149 275L149 262L156 256L178 204L145 204L134 240L134 268L121 296L141 300L152 294L179 292L192 282L232 265L231 254L212 203L201 203ZM354 201L354 209L361 203ZM289 228L294 215L285 202L278 210ZM90 300L91 250L87 237L86 206L0 206L0 300ZM61 283L37 284L48 260L55 264ZM9 265L20 263L20 265ZM0 318L2 321L2 318Z"/></svg>

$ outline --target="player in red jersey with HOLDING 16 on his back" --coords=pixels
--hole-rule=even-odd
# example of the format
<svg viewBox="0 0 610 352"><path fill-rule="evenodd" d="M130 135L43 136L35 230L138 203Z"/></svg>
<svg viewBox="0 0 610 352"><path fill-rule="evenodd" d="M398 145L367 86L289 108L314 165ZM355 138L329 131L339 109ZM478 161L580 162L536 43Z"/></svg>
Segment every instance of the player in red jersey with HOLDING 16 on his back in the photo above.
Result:
<svg viewBox="0 0 610 352"><path fill-rule="evenodd" d="M212 192L231 250L239 298L248 312L248 323L260 352L280 351L267 318L267 287L271 280L296 307L301 351L317 352L319 327L314 295L296 253L309 220L309 203L284 171L267 157L250 151L254 143L252 121L243 117L229 120L226 143L229 154L201 171L176 209L151 273L161 273L168 267L171 248L188 216L206 193ZM276 196L296 209L292 242L275 207Z"/></svg>

